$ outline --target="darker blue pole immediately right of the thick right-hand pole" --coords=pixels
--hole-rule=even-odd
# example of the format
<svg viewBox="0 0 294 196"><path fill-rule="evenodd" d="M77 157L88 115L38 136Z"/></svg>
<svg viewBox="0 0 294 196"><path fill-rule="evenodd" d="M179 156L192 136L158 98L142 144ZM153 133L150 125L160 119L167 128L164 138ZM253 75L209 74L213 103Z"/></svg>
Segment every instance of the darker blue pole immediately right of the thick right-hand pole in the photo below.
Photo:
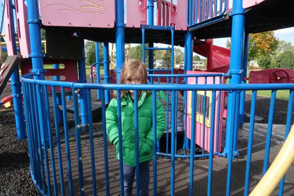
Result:
<svg viewBox="0 0 294 196"><path fill-rule="evenodd" d="M244 55L243 55L243 73L241 82L242 84L246 84L245 77L247 77L247 67L248 67L248 50L249 50L249 33L245 33L244 39ZM240 115L239 115L239 123L244 123L244 112L245 112L245 91L241 92L240 99Z"/></svg>

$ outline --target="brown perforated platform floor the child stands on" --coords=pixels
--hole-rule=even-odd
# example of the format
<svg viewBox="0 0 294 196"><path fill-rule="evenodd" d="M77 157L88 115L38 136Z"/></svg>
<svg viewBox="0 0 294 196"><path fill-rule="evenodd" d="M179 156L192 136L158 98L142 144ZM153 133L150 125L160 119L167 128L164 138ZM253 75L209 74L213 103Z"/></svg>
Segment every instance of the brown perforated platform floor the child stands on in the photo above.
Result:
<svg viewBox="0 0 294 196"><path fill-rule="evenodd" d="M96 169L96 183L98 195L106 195L105 186L105 168L104 168L104 153L103 153L103 135L102 123L94 123L94 149L95 149L95 169ZM272 139L270 147L269 165L272 163L277 153L280 151L284 141L283 125L274 125L272 130ZM245 123L240 125L238 149L240 150L240 158L233 161L232 169L232 182L231 182L231 195L243 196L245 186L245 171L246 171L246 154L247 154L247 141L249 133L249 124ZM75 130L70 130L70 153L72 160L72 177L74 195L79 195L79 174L77 165ZM251 160L251 175L250 175L250 190L252 190L259 180L262 178L263 160L265 153L265 142L267 136L266 124L255 124L254 140L252 148ZM223 128L222 137L225 137L225 127ZM61 137L61 154L62 154L62 168L64 176L64 187L66 195L69 193L68 183L68 170L67 170L67 156L64 137ZM225 141L224 139L222 141ZM120 174L119 174L119 161L116 159L116 150L114 145L108 142L108 165L109 165L109 183L110 195L120 195ZM224 144L223 144L224 145ZM85 195L92 194L92 172L91 172L91 151L90 140L88 133L83 133L81 136L81 150L82 150L82 163L83 163L83 177L84 177L84 193ZM49 164L50 151L49 152ZM56 176L58 184L58 192L60 193L60 173L58 165L57 147L54 147L54 157L56 164ZM153 191L153 167L152 161L150 162L150 194ZM208 176L208 159L194 161L194 192L196 195L207 195L207 176ZM189 195L189 166L190 160L175 160L175 195L186 196ZM157 192L158 195L168 196L171 190L171 160L161 157L157 158ZM51 183L53 182L52 171L50 167ZM213 181L212 181L212 195L223 196L226 194L226 181L227 181L227 160L224 157L213 159ZM53 192L53 189L52 189ZM136 193L136 179L134 180L133 194ZM291 166L286 173L284 195L290 196L294 193L294 166ZM273 193L273 196L278 195L278 189Z"/></svg>

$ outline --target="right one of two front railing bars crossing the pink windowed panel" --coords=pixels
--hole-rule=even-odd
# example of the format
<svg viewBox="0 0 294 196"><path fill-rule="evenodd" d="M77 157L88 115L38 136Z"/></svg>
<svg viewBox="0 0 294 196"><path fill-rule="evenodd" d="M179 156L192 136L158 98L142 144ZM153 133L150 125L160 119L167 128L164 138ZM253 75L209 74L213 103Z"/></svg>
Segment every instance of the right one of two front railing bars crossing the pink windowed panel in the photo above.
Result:
<svg viewBox="0 0 294 196"><path fill-rule="evenodd" d="M213 146L214 146L214 130L215 130L215 112L216 112L216 91L212 91L211 102L211 120L210 120L210 139L209 139L209 163L208 163L208 186L207 195L211 196L212 188L212 167L213 167ZM205 118L205 113L204 113Z"/></svg>

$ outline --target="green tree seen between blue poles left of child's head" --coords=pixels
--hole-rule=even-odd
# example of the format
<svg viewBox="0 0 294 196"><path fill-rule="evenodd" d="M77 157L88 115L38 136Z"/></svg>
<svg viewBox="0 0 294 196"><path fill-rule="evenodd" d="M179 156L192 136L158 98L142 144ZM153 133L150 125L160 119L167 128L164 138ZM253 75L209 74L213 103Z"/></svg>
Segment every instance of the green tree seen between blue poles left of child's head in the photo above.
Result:
<svg viewBox="0 0 294 196"><path fill-rule="evenodd" d="M86 41L85 43L85 53L86 53L86 64L96 63L96 47L95 42ZM99 60L103 61L103 46L99 43Z"/></svg>

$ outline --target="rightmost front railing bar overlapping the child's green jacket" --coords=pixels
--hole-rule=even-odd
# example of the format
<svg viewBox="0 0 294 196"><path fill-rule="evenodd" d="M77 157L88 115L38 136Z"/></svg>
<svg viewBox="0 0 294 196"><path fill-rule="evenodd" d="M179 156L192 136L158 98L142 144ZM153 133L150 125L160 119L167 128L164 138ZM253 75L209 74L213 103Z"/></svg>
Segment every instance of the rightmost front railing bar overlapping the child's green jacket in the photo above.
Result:
<svg viewBox="0 0 294 196"><path fill-rule="evenodd" d="M156 91L155 90L152 91L152 108L156 108ZM156 116L156 110L152 110L152 116ZM157 195L156 118L152 118L152 125L153 125L153 196L156 196Z"/></svg>

